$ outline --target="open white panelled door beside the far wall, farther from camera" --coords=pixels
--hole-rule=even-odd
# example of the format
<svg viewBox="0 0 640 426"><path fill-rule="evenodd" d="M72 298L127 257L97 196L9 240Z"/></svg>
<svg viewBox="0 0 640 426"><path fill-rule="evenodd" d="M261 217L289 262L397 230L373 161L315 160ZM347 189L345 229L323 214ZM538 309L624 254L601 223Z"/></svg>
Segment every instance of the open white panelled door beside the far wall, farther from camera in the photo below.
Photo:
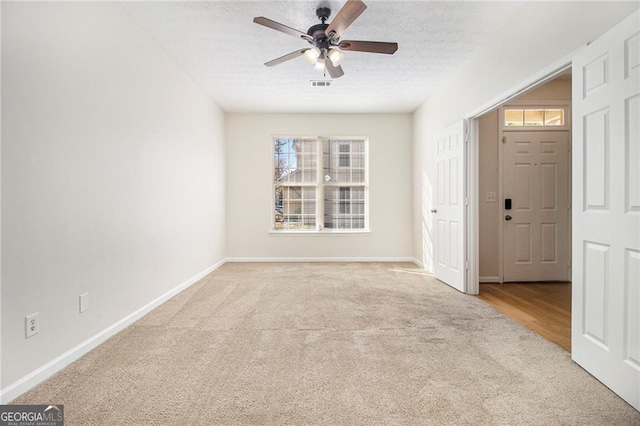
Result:
<svg viewBox="0 0 640 426"><path fill-rule="evenodd" d="M465 291L464 121L444 129L437 140L434 214L435 276Z"/></svg>

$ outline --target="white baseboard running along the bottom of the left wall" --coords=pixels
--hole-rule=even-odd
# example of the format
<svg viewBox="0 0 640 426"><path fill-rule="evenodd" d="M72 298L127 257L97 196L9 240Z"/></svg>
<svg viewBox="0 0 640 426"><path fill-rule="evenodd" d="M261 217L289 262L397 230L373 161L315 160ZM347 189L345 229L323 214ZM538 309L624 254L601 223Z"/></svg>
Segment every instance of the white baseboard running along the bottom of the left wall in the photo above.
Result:
<svg viewBox="0 0 640 426"><path fill-rule="evenodd" d="M180 293L181 291L184 291L185 289L187 289L191 285L195 284L200 279L202 279L204 276L206 276L207 274L210 274L211 272L215 271L216 269L218 269L219 267L221 267L225 263L226 263L226 259L225 260L221 260L220 262L216 263L215 265L208 267L204 271L202 271L202 272L198 273L197 275L189 278L187 281L185 281L182 284L174 287L173 289L171 289L168 292L164 293L163 295L161 295L160 297L156 298L155 300L147 303L146 305L144 305L140 309L136 310L135 312L129 314L128 316L126 316L125 318L121 319L120 321L118 321L118 322L112 324L111 326L105 328L104 330L100 331L98 334L90 337L89 339L87 339L84 342L80 343L76 347L68 350L67 352L63 353L62 355L59 355L58 357L56 357L53 360L49 361L48 363L46 363L42 367L32 371L31 373L27 374L26 376L22 377L21 379L18 379L14 383L12 383L9 386L7 386L6 388L2 389L0 391L0 404L7 404L7 403L13 401L15 398L17 398L18 396L22 395L23 393L25 393L26 391L28 391L32 387L38 385L39 383L41 383L44 380L48 379L49 377L53 376L55 373L57 373L58 371L62 370L67 365L71 364L72 362L76 361L77 359L79 359L83 355L87 354L92 349L94 349L97 346L99 346L100 344L102 344L108 338L114 336L119 331L121 331L124 328L130 326L131 324L133 324L134 322L136 322L137 320L142 318L147 313L151 312L152 310L154 310L155 308L157 308L158 306L160 306L161 304L163 304L167 300L171 299L176 294Z"/></svg>

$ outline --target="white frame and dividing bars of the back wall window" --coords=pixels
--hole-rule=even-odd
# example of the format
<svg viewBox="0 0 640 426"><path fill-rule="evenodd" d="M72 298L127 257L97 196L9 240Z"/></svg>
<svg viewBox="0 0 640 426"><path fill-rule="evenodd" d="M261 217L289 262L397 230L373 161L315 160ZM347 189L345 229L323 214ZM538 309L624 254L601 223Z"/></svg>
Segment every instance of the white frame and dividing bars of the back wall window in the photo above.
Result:
<svg viewBox="0 0 640 426"><path fill-rule="evenodd" d="M276 170L276 156L275 156L275 142L277 139L316 139L316 180L315 182L277 182L275 179L274 171ZM324 164L323 164L323 156L324 156L324 141L337 141L338 146L340 146L340 142L345 141L362 141L364 142L364 181L363 182L326 182L324 180ZM336 166L337 168L351 168L353 165L352 157L352 148L349 146L349 164L350 166ZM340 157L340 152L338 151L338 158ZM349 234L369 234L371 232L369 227L369 137L366 135L343 135L343 134L323 134L323 135L304 135L304 134L274 134L271 135L271 225L269 234L272 235L349 235ZM316 226L315 229L276 229L276 188L278 186L307 186L313 187L316 191ZM364 228L357 229L341 229L341 228L325 228L325 209L324 209L324 188L325 187L336 187L336 188L350 188L351 190L354 187L361 187L364 190ZM339 189L338 189L339 191ZM351 205L352 201L349 199L349 210L351 213L349 215L353 215L353 206Z"/></svg>

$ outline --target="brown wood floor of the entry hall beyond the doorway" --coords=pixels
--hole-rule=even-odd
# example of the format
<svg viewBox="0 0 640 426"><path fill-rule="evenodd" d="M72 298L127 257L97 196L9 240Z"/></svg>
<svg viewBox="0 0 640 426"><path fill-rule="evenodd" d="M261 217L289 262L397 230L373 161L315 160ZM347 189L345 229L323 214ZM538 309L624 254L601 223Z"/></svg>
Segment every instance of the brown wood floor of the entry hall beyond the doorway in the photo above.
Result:
<svg viewBox="0 0 640 426"><path fill-rule="evenodd" d="M571 283L480 284L478 298L571 352Z"/></svg>

